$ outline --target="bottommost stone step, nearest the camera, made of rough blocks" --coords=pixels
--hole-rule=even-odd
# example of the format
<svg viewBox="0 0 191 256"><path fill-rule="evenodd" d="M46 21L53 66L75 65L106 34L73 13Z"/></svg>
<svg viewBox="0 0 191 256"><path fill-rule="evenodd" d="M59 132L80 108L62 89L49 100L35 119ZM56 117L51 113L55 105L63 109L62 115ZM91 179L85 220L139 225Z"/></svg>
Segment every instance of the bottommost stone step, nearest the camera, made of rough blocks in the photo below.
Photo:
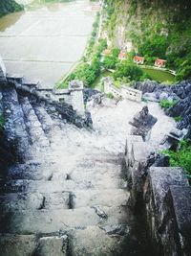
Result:
<svg viewBox="0 0 191 256"><path fill-rule="evenodd" d="M87 226L67 233L36 235L0 234L3 256L122 255L130 228L126 224ZM135 245L135 243L134 243Z"/></svg>

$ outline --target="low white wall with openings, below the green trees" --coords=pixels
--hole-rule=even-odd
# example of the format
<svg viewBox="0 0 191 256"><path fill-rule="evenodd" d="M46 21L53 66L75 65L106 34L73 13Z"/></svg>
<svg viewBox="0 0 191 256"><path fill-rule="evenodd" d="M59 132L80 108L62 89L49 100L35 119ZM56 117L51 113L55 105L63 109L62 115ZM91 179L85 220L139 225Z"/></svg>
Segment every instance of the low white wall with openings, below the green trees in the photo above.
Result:
<svg viewBox="0 0 191 256"><path fill-rule="evenodd" d="M135 102L141 102L142 93L131 87L122 85L120 89L114 86L114 82L111 78L106 78L104 80L104 92L106 94L112 93L115 98L128 99Z"/></svg>

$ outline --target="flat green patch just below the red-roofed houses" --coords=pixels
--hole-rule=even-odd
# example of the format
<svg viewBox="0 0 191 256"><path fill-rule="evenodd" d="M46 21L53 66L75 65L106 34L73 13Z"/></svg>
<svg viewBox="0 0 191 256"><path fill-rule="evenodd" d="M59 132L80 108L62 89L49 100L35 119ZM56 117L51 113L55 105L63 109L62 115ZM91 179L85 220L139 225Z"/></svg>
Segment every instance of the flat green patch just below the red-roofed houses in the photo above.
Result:
<svg viewBox="0 0 191 256"><path fill-rule="evenodd" d="M140 68L154 81L173 83L175 82L175 76L171 73L154 68L141 67Z"/></svg>

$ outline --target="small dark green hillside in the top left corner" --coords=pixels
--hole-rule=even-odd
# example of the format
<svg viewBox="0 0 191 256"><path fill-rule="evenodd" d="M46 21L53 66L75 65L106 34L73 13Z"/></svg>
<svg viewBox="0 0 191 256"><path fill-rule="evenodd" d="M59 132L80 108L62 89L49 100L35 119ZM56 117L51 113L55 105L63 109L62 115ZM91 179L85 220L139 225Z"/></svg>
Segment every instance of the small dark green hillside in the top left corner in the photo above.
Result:
<svg viewBox="0 0 191 256"><path fill-rule="evenodd" d="M9 12L19 12L22 10L23 10L23 7L17 4L14 0L0 1L0 16L8 14Z"/></svg>

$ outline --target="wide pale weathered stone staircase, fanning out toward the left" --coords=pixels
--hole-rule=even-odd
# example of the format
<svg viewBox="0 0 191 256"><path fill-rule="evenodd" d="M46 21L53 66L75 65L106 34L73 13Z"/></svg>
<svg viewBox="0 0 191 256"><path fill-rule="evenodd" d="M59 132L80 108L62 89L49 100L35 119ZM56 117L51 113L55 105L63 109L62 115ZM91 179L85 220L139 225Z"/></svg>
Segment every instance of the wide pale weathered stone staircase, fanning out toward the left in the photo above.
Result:
<svg viewBox="0 0 191 256"><path fill-rule="evenodd" d="M3 103L23 161L1 181L0 255L126 255L132 220L120 157L68 146L64 123L13 88Z"/></svg>

